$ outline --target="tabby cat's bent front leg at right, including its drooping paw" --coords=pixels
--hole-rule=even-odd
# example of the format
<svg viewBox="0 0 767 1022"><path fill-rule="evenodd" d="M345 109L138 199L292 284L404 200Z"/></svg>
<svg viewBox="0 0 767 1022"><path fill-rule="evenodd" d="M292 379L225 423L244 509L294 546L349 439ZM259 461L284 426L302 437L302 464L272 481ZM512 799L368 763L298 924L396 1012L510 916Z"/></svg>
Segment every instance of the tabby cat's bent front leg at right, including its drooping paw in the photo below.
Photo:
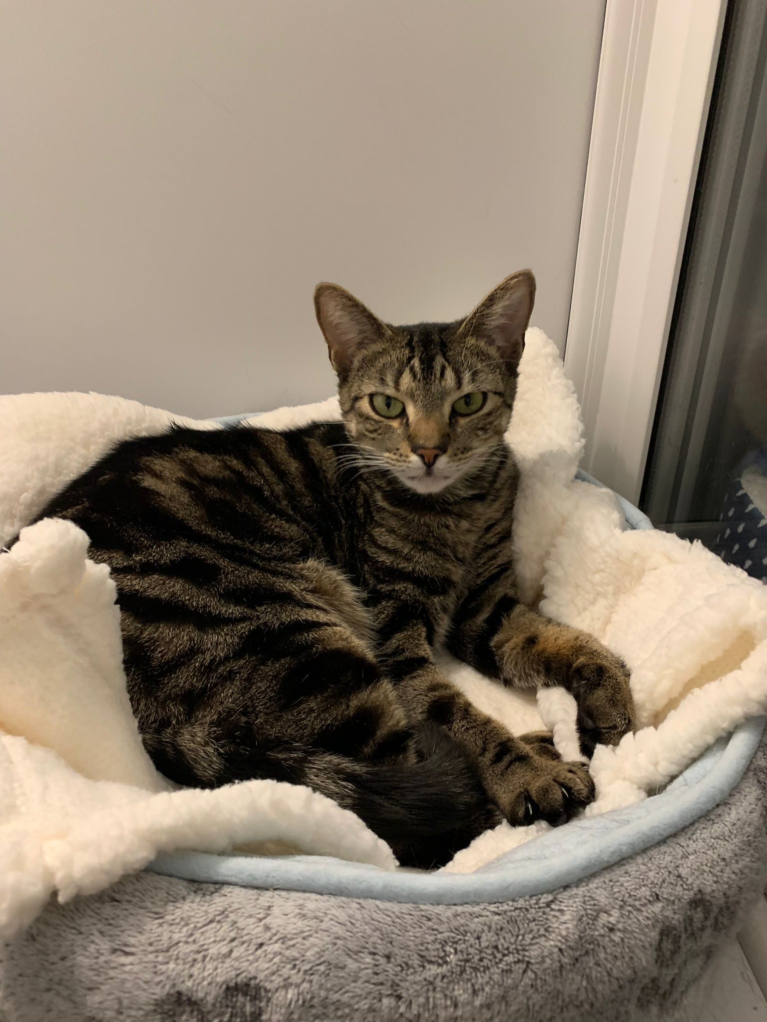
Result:
<svg viewBox="0 0 767 1022"><path fill-rule="evenodd" d="M448 648L504 685L561 685L578 703L583 751L617 745L635 721L626 664L586 632L531 610L514 592L510 567L490 585L480 579L454 615Z"/></svg>

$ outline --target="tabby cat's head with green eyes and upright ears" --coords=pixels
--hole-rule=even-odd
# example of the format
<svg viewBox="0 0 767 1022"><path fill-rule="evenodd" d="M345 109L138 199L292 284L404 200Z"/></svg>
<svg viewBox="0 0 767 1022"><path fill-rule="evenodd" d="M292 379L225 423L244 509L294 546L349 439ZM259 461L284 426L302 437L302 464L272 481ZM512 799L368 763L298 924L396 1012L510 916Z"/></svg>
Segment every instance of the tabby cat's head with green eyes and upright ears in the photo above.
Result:
<svg viewBox="0 0 767 1022"><path fill-rule="evenodd" d="M478 468L503 442L535 299L529 270L506 277L465 319L391 326L337 284L314 303L347 431L349 464L385 467L419 493Z"/></svg>

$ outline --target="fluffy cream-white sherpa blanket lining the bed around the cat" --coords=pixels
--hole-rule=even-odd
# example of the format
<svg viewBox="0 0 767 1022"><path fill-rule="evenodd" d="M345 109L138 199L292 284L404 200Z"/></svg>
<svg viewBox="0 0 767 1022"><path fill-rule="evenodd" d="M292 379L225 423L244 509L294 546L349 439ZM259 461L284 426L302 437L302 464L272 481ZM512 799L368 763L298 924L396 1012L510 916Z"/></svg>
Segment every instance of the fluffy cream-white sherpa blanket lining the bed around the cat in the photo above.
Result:
<svg viewBox="0 0 767 1022"><path fill-rule="evenodd" d="M285 427L337 418L334 399L259 419ZM0 547L116 440L172 416L120 398L0 398ZM622 531L613 497L573 476L579 409L554 345L530 330L509 443L522 469L514 511L523 595L591 632L632 669L641 730L592 760L590 814L644 798L714 739L767 709L767 587L700 545ZM24 528L0 553L0 930L13 932L52 892L95 892L173 849L285 849L396 868L353 814L307 788L251 781L173 790L146 756L121 663L115 587L70 522ZM454 682L515 732L552 728L578 755L561 690L525 697L447 663ZM540 715L539 715L540 714ZM545 824L503 824L446 868L469 872Z"/></svg>

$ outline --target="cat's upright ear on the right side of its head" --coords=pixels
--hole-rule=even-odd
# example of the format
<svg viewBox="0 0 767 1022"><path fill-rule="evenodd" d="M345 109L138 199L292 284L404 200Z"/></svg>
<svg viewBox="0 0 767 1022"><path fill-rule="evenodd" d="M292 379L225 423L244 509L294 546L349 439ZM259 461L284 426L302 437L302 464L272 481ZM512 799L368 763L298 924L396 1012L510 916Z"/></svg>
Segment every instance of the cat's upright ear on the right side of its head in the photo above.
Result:
<svg viewBox="0 0 767 1022"><path fill-rule="evenodd" d="M515 368L525 350L525 331L534 303L535 277L530 270L520 270L483 298L458 332L489 341L501 359Z"/></svg>

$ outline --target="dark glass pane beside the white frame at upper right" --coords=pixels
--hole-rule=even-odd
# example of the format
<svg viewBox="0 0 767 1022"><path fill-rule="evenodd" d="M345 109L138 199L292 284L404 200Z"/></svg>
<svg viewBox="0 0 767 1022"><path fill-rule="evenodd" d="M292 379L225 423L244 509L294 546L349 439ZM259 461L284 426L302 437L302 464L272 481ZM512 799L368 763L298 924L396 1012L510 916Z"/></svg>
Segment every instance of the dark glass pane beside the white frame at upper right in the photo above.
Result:
<svg viewBox="0 0 767 1022"><path fill-rule="evenodd" d="M732 4L642 510L767 580L767 31Z"/></svg>

